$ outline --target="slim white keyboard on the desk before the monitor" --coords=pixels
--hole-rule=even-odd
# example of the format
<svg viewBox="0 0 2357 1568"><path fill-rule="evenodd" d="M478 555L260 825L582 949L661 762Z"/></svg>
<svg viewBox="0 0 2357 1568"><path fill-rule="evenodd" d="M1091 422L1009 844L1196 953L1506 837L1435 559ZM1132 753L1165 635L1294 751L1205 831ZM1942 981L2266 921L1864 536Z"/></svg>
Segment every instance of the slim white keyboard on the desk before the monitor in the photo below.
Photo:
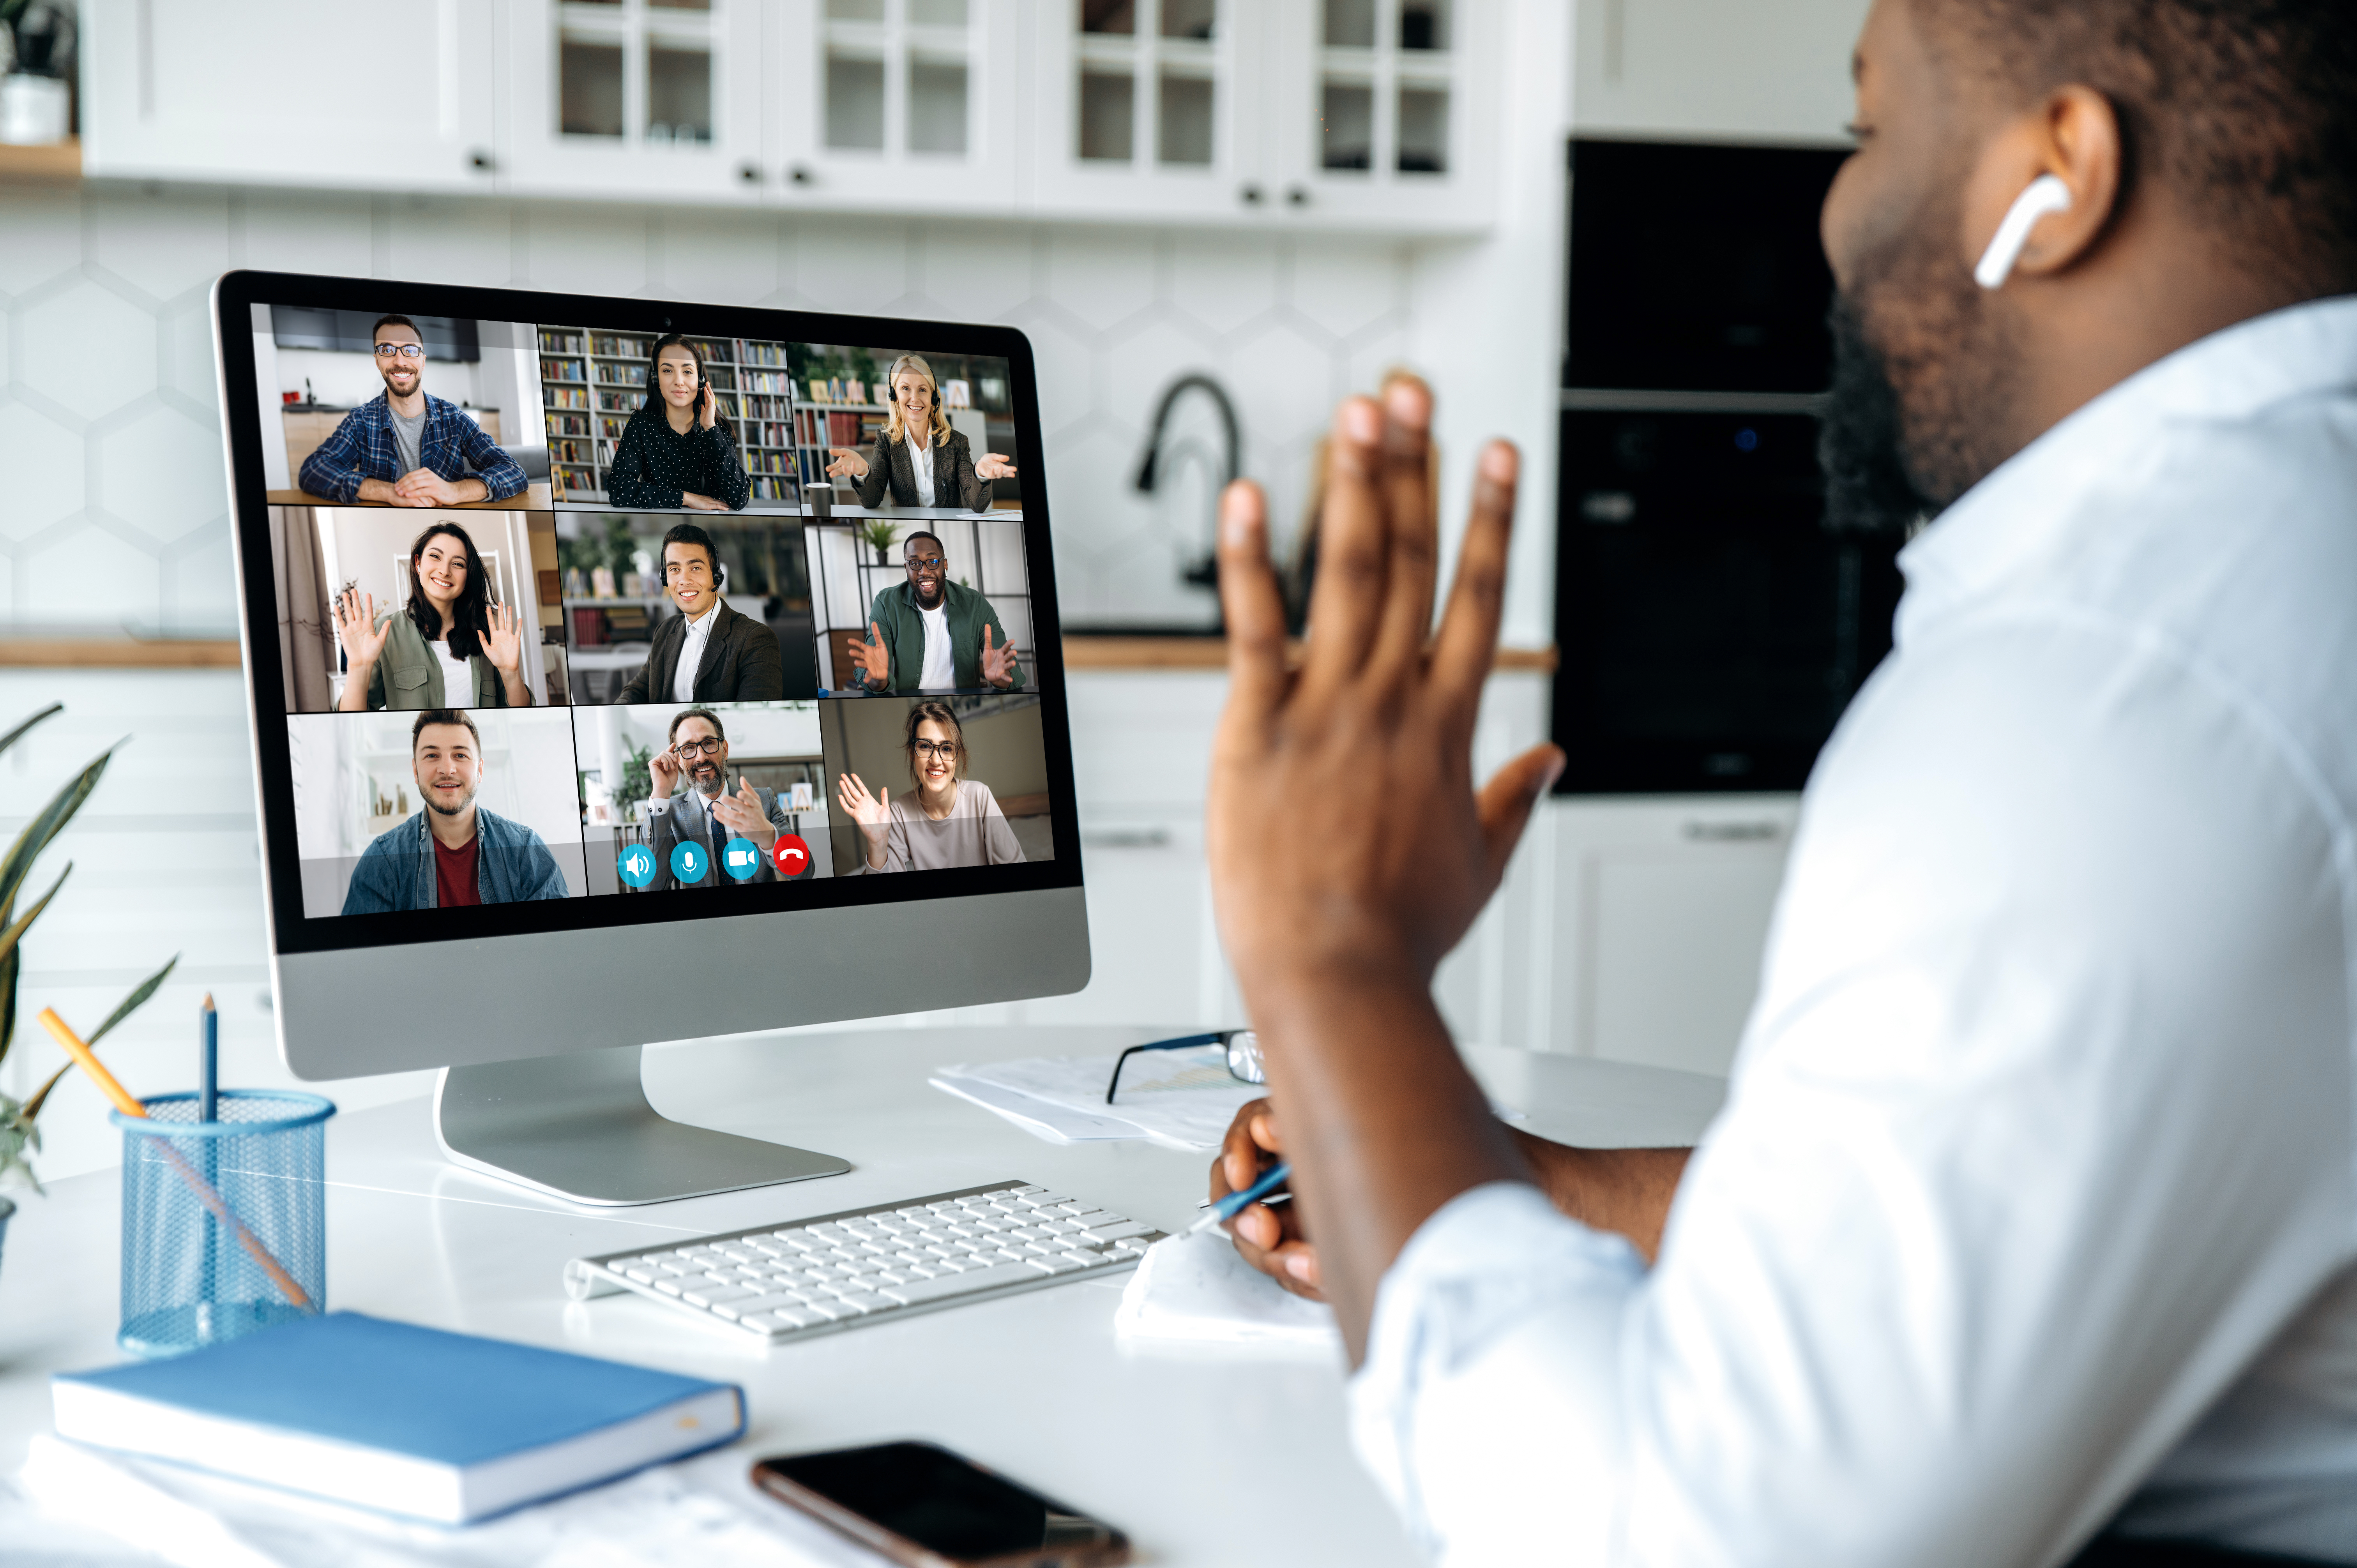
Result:
<svg viewBox="0 0 2357 1568"><path fill-rule="evenodd" d="M702 1236L566 1264L577 1302L634 1290L757 1335L804 1339L1113 1273L1162 1231L1025 1181Z"/></svg>

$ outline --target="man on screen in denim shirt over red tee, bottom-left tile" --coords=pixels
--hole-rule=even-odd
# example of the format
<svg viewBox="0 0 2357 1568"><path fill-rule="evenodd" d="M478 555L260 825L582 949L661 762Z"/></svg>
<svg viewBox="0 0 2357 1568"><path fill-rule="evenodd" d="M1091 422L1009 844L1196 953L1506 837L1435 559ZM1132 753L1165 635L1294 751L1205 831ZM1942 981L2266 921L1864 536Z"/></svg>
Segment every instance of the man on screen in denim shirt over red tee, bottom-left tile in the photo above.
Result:
<svg viewBox="0 0 2357 1568"><path fill-rule="evenodd" d="M424 806L361 851L344 894L346 915L566 896L566 875L547 842L474 804L483 788L483 736L464 710L417 714L410 773Z"/></svg>

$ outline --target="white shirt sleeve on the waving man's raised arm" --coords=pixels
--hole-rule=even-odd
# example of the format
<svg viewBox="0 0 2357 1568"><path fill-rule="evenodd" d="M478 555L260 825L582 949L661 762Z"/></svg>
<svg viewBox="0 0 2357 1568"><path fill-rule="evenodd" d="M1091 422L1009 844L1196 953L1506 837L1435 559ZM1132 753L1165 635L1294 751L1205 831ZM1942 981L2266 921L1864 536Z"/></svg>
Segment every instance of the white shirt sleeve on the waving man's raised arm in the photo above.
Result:
<svg viewBox="0 0 2357 1568"><path fill-rule="evenodd" d="M2133 627L1895 655L1657 1269L1530 1188L1442 1207L1365 1462L1452 1563L2062 1561L2350 1259L2348 865L2298 747Z"/></svg>

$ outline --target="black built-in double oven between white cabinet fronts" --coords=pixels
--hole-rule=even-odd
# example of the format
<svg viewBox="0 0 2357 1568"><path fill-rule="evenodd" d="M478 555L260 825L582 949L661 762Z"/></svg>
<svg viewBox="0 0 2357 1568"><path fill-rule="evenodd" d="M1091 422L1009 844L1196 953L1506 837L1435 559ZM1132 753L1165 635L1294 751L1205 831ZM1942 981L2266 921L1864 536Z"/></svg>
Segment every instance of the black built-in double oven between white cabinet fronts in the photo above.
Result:
<svg viewBox="0 0 2357 1568"><path fill-rule="evenodd" d="M1798 790L1890 651L1895 538L1824 528L1827 149L1572 144L1563 795Z"/></svg>

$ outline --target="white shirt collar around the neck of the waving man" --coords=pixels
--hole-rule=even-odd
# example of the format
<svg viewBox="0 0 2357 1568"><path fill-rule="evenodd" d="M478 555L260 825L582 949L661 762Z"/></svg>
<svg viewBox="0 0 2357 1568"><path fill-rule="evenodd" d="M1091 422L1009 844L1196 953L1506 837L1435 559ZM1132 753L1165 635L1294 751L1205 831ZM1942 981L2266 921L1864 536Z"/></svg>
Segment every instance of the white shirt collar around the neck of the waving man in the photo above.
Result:
<svg viewBox="0 0 2357 1568"><path fill-rule="evenodd" d="M2001 462L1900 552L1900 641L2034 568L2091 493L2133 481L2168 448L2164 427L2244 420L2350 387L2357 297L2253 316L2145 365Z"/></svg>

